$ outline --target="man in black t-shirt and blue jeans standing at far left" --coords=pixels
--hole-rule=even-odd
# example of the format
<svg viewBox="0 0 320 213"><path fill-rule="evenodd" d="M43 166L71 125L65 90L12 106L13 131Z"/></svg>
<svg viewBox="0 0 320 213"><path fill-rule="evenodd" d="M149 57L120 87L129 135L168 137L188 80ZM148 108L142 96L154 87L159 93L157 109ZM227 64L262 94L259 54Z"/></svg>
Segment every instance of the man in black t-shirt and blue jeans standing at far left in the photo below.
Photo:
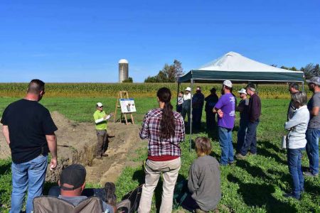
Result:
<svg viewBox="0 0 320 213"><path fill-rule="evenodd" d="M57 127L48 109L38 102L45 94L45 83L31 80L24 99L9 104L2 114L1 124L6 142L11 148L12 193L11 211L21 212L28 187L26 212L33 210L33 197L42 195L46 178L48 152L50 169L57 166Z"/></svg>

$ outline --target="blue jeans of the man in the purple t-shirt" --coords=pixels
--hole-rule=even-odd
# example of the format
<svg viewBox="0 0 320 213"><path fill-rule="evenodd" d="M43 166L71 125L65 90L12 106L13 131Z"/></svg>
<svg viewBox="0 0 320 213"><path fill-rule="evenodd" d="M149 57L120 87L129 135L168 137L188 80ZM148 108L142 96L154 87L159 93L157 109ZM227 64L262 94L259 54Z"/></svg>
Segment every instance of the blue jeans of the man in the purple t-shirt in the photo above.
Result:
<svg viewBox="0 0 320 213"><path fill-rule="evenodd" d="M218 126L219 143L221 147L221 165L233 162L233 129Z"/></svg>

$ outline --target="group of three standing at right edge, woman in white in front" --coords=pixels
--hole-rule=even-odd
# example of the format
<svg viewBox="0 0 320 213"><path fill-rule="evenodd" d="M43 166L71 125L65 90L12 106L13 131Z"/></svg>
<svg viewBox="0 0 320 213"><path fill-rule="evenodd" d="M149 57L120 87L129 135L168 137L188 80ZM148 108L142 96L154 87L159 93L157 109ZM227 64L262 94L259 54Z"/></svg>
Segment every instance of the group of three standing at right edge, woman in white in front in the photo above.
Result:
<svg viewBox="0 0 320 213"><path fill-rule="evenodd" d="M289 84L292 100L287 111L287 122L284 128L287 134L287 160L289 173L292 176L292 192L284 194L297 200L304 192L304 176L319 175L319 136L320 136L320 77L312 77L308 82L313 93L309 102L305 92L299 91L299 85ZM303 172L302 155L306 149L309 168Z"/></svg>

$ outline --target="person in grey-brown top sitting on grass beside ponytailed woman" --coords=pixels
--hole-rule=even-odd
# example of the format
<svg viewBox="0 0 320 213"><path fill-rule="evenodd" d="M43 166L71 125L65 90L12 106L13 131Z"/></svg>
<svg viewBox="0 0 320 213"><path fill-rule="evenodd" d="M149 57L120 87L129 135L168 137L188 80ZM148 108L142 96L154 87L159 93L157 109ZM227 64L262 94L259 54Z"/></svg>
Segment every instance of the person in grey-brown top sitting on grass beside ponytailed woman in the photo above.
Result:
<svg viewBox="0 0 320 213"><path fill-rule="evenodd" d="M214 210L221 198L220 170L218 160L210 156L211 143L206 137L196 138L196 153L189 170L188 190L190 194L181 204L189 211Z"/></svg>

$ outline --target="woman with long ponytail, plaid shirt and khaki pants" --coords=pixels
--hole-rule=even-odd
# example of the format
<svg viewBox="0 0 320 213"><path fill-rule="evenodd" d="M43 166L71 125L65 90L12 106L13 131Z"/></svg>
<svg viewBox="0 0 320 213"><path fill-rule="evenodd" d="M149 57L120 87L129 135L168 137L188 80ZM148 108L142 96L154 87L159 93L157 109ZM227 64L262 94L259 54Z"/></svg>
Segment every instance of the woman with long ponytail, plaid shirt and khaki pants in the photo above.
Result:
<svg viewBox="0 0 320 213"><path fill-rule="evenodd" d="M160 212L171 212L174 186L180 170L180 143L184 140L184 121L171 105L171 91L166 87L158 90L159 108L151 109L142 124L140 138L148 138L148 159L144 171L145 183L138 212L150 212L154 189L161 173L164 177Z"/></svg>

